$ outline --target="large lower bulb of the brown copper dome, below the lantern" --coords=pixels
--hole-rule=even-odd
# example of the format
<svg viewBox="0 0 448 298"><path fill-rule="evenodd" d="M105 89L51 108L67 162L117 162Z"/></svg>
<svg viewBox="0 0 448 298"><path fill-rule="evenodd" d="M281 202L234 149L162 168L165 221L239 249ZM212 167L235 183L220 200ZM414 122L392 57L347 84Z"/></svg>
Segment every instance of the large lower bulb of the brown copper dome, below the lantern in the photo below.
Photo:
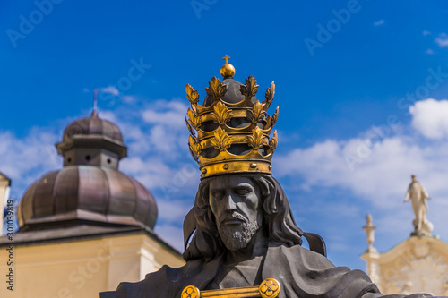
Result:
<svg viewBox="0 0 448 298"><path fill-rule="evenodd" d="M156 218L156 202L141 183L102 166L65 166L43 175L18 209L20 230L77 223L153 228Z"/></svg>

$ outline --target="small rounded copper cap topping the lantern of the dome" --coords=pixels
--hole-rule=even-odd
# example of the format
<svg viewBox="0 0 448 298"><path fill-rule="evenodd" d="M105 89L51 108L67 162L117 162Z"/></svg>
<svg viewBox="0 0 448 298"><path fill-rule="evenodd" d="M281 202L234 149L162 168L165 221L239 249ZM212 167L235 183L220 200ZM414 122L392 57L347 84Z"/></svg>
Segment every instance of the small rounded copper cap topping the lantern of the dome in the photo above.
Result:
<svg viewBox="0 0 448 298"><path fill-rule="evenodd" d="M100 119L96 112L93 112L90 117L82 118L70 123L65 128L63 141L73 139L73 137L90 135L123 142L123 136L116 124Z"/></svg>

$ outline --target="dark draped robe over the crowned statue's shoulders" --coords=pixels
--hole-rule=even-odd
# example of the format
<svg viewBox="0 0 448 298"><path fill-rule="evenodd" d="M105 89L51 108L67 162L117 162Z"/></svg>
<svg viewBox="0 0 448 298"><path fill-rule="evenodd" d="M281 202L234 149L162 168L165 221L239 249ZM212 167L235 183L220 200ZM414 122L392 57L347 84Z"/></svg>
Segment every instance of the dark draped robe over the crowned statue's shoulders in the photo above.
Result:
<svg viewBox="0 0 448 298"><path fill-rule="evenodd" d="M121 283L114 292L101 293L101 298L180 298L187 285L207 289L220 272L223 257L208 262L190 260L181 268L163 266L137 283ZM254 272L247 272L253 275ZM262 279L275 278L280 282L279 298L376 298L383 297L378 288L361 270L334 267L323 255L299 245L286 247L270 243L266 252ZM246 285L244 285L246 286ZM388 295L400 298L402 295ZM431 297L414 294L408 297Z"/></svg>

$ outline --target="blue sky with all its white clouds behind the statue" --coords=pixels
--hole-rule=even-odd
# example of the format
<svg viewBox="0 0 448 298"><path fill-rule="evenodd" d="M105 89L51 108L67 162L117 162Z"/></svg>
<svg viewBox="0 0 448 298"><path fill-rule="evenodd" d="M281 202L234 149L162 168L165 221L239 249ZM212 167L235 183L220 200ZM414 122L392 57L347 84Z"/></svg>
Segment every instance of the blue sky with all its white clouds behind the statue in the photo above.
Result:
<svg viewBox="0 0 448 298"><path fill-rule="evenodd" d="M235 79L271 81L280 106L273 174L298 226L323 235L337 265L365 268L409 236L402 203L415 173L448 239L448 4L444 1L12 1L0 4L0 172L14 198L61 167L53 145L90 115L117 123L120 169L159 204L156 232L179 247L199 171L189 156L185 84L201 98L221 57ZM310 46L311 45L311 46ZM130 70L135 65L140 72ZM132 80L131 80L132 79Z"/></svg>

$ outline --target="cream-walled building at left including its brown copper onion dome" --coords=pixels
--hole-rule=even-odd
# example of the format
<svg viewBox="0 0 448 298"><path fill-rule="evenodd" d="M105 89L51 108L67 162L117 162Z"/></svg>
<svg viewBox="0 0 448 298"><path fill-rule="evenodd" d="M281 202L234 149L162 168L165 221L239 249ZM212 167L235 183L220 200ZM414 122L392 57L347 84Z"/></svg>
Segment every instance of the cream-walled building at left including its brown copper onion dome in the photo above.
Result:
<svg viewBox="0 0 448 298"><path fill-rule="evenodd" d="M154 234L151 193L118 170L127 149L114 123L90 117L69 124L56 145L64 167L31 184L14 210L19 230L0 238L0 297L98 297L162 265L184 264Z"/></svg>

